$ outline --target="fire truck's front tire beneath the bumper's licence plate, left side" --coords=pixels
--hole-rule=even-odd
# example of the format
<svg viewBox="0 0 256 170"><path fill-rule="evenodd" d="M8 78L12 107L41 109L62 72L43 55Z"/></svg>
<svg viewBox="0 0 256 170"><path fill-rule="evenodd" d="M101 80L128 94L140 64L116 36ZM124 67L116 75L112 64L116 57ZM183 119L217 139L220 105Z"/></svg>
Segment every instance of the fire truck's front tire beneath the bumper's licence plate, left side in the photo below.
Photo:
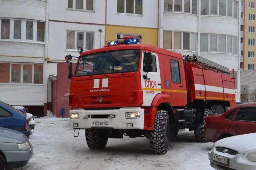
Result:
<svg viewBox="0 0 256 170"><path fill-rule="evenodd" d="M103 149L108 142L108 130L85 129L85 140L91 149Z"/></svg>

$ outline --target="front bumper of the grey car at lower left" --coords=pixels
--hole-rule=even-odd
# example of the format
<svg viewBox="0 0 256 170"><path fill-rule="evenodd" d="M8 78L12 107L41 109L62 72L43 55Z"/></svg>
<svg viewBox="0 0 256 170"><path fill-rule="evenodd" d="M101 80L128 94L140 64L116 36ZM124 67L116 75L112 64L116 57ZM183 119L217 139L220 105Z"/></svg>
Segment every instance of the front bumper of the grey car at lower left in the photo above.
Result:
<svg viewBox="0 0 256 170"><path fill-rule="evenodd" d="M18 168L27 165L28 160L33 155L33 147L28 151L4 151L6 157L7 168Z"/></svg>

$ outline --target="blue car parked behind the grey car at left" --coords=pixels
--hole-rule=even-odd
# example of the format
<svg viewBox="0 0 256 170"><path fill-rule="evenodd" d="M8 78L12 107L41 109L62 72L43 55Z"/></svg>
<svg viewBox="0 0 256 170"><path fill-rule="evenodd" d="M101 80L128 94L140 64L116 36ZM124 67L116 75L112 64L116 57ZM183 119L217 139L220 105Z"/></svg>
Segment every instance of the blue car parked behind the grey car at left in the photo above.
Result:
<svg viewBox="0 0 256 170"><path fill-rule="evenodd" d="M17 109L0 100L0 127L17 130L29 138L30 128L26 117Z"/></svg>

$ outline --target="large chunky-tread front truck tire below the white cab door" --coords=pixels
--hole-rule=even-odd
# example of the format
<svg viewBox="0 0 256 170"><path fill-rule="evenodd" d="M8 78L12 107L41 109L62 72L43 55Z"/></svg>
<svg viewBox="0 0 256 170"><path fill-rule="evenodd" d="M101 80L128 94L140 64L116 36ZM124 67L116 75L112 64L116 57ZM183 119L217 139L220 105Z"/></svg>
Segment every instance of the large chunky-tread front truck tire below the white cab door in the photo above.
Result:
<svg viewBox="0 0 256 170"><path fill-rule="evenodd" d="M164 154L169 143L169 116L166 110L157 110L154 130L150 138L150 149L155 154Z"/></svg>

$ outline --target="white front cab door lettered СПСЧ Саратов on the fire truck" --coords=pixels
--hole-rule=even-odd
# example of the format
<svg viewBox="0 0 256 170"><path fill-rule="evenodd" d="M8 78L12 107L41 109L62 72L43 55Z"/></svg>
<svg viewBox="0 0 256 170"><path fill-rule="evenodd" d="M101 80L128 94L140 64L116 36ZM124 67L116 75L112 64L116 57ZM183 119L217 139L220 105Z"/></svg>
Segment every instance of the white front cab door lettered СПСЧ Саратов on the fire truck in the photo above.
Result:
<svg viewBox="0 0 256 170"><path fill-rule="evenodd" d="M151 53L152 57L152 68L153 71L148 74L143 71L144 54L147 51L143 51L142 62L141 62L141 89L143 91L143 104L142 106L151 106L151 103L158 93L161 93L161 77L158 55L156 53ZM147 78L146 78L147 75Z"/></svg>

